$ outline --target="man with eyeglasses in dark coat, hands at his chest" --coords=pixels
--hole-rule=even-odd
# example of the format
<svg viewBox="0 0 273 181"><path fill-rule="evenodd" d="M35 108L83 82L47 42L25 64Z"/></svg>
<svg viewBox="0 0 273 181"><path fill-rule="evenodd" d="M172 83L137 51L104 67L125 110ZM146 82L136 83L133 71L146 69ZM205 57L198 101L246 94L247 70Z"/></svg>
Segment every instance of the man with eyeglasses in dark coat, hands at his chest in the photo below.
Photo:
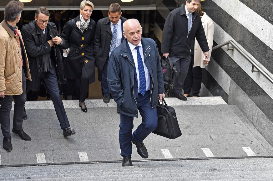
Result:
<svg viewBox="0 0 273 181"><path fill-rule="evenodd" d="M62 47L65 42L58 34L55 24L49 22L46 7L38 8L34 18L35 20L24 25L21 31L32 73L32 81L27 81L27 91L39 91L42 81L53 101L63 136L67 137L75 134L75 131L69 128L58 88L58 80L64 83L62 56L58 46Z"/></svg>

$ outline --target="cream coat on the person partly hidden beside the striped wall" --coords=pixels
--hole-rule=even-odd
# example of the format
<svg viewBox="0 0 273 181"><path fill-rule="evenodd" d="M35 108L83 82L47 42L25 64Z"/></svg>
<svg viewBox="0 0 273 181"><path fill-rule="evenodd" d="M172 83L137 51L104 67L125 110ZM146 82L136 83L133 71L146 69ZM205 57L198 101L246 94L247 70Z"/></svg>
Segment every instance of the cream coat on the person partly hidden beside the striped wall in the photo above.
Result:
<svg viewBox="0 0 273 181"><path fill-rule="evenodd" d="M211 51L212 51L212 44L213 44L213 33L214 33L214 24L212 22L212 19L208 17L206 13L203 14L202 18L202 25L205 30L206 38L209 45L209 53L211 57ZM208 64L204 65L203 60L210 60L210 58L205 59L204 53L202 52L202 49L200 48L197 40L195 39L195 47L194 47L194 64L193 67L200 66L201 68L205 68Z"/></svg>

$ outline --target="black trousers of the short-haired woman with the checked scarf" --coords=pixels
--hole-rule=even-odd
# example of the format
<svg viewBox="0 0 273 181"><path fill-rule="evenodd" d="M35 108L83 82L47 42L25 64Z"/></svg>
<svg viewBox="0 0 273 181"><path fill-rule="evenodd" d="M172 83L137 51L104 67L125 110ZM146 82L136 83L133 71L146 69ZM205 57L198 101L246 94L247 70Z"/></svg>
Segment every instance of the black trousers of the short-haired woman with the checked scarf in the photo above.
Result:
<svg viewBox="0 0 273 181"><path fill-rule="evenodd" d="M83 64L82 76L78 79L67 79L67 95L73 95L73 99L79 99L84 102L89 89L89 78L86 68Z"/></svg>

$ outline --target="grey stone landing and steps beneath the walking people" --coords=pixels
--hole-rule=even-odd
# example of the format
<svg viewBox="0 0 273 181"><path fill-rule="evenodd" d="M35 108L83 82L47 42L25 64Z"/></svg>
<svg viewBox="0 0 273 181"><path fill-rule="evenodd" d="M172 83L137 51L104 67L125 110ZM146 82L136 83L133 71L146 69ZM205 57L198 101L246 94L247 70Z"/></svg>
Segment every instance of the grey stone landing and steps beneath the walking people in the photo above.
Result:
<svg viewBox="0 0 273 181"><path fill-rule="evenodd" d="M64 138L51 101L28 101L28 119L23 129L32 140L26 142L11 133L13 151L6 152L0 141L0 180L270 180L272 159L182 160L154 162L156 159L273 156L273 148L236 106L220 97L166 98L175 108L182 136L170 140L150 134L144 144L149 158L141 158L133 145L133 167L122 168L119 148L119 121L116 105L102 100L87 100L83 113L78 101L63 101L70 125L76 134ZM11 111L11 125L13 111ZM141 117L135 118L135 127ZM3 136L0 136L3 140ZM138 160L138 161L137 161ZM147 161L147 162L144 162ZM63 166L59 164L105 162ZM258 164L257 167L255 164ZM18 165L19 167L10 167ZM251 166L252 165L252 166ZM261 168L261 169L260 169ZM270 170L271 169L271 170ZM232 174L231 174L232 173ZM234 173L234 174L233 174ZM240 175L242 177L240 177ZM255 176L256 175L256 176Z"/></svg>

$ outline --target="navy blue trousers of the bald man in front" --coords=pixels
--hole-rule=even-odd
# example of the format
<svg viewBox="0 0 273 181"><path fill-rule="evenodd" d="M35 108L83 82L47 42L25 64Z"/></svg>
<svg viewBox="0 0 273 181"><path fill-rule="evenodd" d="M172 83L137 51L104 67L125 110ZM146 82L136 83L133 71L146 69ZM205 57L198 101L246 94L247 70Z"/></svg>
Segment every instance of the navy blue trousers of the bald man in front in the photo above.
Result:
<svg viewBox="0 0 273 181"><path fill-rule="evenodd" d="M144 96L138 94L137 106L142 116L142 123L134 131L133 135L134 117L120 113L119 146L121 149L120 154L123 157L132 154L132 138L136 142L142 142L157 127L157 110L156 108L152 109L152 105L149 103L149 93L150 91L146 91Z"/></svg>

